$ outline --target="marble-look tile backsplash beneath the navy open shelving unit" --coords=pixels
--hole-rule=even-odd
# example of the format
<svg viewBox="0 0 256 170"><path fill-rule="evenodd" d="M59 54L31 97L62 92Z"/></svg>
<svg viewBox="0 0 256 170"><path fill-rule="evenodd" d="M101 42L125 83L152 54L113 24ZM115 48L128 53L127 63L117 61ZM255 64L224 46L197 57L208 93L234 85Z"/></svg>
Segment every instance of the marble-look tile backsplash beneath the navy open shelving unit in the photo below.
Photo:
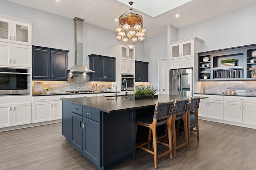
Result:
<svg viewBox="0 0 256 170"><path fill-rule="evenodd" d="M256 93L256 81L202 82L204 92L223 92L227 89L238 93Z"/></svg>

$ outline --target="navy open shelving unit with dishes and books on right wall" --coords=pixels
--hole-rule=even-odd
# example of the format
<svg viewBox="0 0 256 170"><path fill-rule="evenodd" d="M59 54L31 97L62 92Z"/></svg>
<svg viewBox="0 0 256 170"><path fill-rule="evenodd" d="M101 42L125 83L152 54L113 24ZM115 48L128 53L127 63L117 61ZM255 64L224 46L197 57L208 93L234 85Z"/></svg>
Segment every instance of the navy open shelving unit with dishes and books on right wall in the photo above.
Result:
<svg viewBox="0 0 256 170"><path fill-rule="evenodd" d="M250 63L252 59L256 62L254 51L256 44L198 53L198 81L256 80L251 74L256 70L256 63ZM236 62L233 66L223 66L220 61L225 59L236 59ZM203 79L204 72L210 73L210 79Z"/></svg>

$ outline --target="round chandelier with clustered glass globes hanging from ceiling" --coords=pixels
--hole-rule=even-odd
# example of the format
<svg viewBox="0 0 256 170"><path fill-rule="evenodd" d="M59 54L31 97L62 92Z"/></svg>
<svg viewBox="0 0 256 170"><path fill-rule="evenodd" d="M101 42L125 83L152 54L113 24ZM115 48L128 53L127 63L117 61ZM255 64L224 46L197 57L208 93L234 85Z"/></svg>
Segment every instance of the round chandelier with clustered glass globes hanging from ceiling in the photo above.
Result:
<svg viewBox="0 0 256 170"><path fill-rule="evenodd" d="M142 16L132 8L133 2L130 1L129 4L131 8L119 17L119 25L116 28L116 32L118 33L116 39L119 42L122 40L125 44L130 41L128 48L134 49L133 44L136 41L143 41L145 39L146 29L143 28Z"/></svg>

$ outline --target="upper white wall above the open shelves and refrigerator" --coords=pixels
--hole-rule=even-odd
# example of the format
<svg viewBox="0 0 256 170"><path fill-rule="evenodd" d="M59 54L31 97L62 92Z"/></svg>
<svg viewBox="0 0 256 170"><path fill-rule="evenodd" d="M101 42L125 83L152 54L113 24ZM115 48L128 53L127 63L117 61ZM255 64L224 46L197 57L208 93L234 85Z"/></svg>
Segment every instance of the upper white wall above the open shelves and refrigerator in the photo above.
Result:
<svg viewBox="0 0 256 170"><path fill-rule="evenodd" d="M178 39L198 37L203 51L256 43L256 5L178 29Z"/></svg>

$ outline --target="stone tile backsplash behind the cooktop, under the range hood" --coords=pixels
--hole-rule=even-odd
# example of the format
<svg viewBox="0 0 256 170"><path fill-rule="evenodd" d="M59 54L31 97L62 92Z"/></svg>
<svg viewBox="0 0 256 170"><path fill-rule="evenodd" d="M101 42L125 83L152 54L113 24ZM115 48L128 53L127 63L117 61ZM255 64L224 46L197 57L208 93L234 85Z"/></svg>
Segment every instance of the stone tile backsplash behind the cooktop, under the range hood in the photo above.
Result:
<svg viewBox="0 0 256 170"><path fill-rule="evenodd" d="M71 76L68 81L32 81L32 91L34 92L34 82L42 82L43 88L50 88L51 93L65 93L67 90L95 90L93 84L99 84L98 91L104 91L111 87L111 82L90 82L89 74ZM43 93L45 90L42 91Z"/></svg>

